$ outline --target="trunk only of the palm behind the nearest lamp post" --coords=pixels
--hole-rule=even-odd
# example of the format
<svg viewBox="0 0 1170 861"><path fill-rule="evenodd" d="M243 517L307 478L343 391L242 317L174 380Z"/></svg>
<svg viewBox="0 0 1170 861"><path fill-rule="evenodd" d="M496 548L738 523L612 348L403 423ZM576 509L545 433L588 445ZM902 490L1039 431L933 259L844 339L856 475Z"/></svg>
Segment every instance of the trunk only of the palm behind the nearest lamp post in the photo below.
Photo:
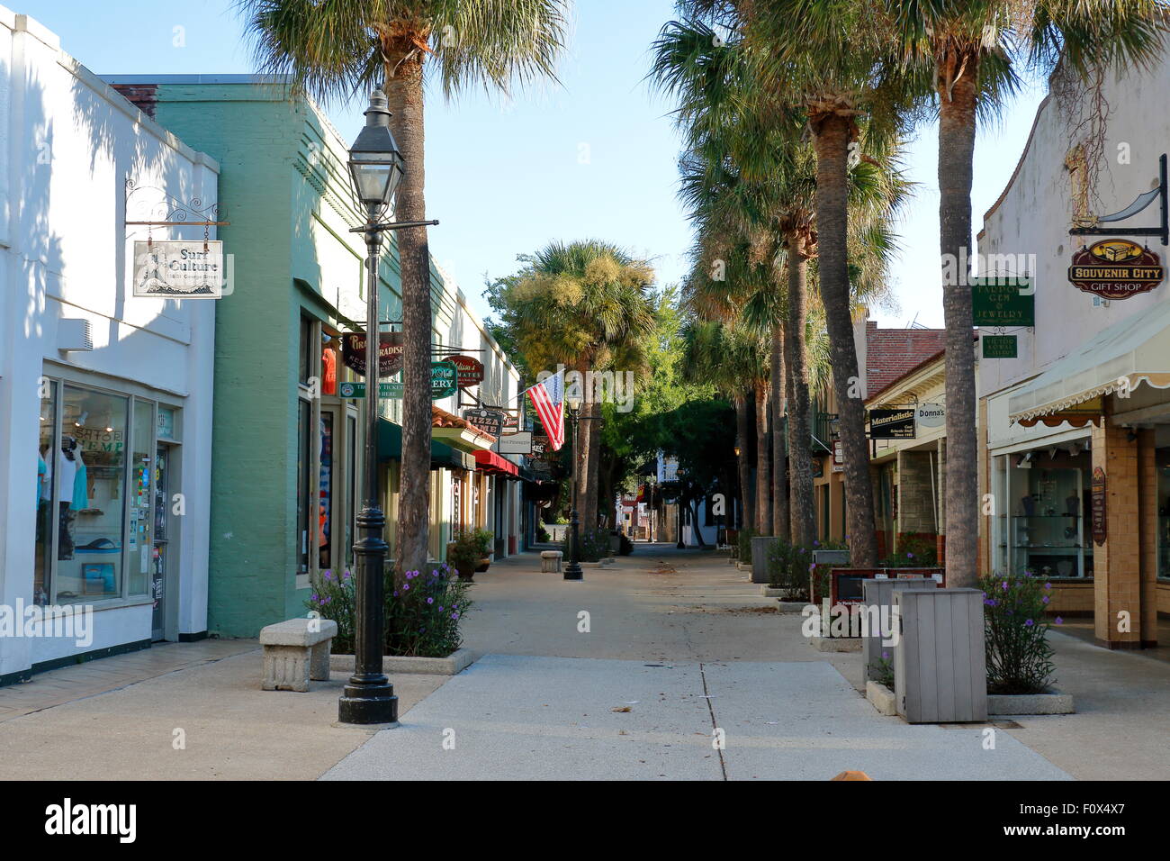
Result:
<svg viewBox="0 0 1170 861"><path fill-rule="evenodd" d="M426 219L424 190L422 63L392 57L386 96L391 132L406 160L398 186L394 218ZM400 62L398 62L400 61ZM393 69L393 75L390 74ZM426 227L395 231L402 283L402 463L399 481L398 546L393 548L398 582L427 563L431 511L431 254ZM370 333L377 337L376 333ZM372 383L373 381L371 381Z"/></svg>

